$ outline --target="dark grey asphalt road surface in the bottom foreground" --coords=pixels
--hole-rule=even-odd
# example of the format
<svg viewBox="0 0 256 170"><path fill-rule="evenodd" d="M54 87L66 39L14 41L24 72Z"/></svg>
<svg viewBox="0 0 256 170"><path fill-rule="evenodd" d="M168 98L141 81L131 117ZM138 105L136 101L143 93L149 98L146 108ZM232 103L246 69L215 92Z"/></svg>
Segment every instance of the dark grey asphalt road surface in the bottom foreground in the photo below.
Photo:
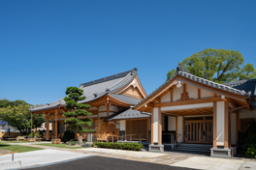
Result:
<svg viewBox="0 0 256 170"><path fill-rule="evenodd" d="M28 168L27 170L192 170L189 168L173 167L155 163L132 161L104 156L91 156L73 161L51 164L48 166Z"/></svg>

